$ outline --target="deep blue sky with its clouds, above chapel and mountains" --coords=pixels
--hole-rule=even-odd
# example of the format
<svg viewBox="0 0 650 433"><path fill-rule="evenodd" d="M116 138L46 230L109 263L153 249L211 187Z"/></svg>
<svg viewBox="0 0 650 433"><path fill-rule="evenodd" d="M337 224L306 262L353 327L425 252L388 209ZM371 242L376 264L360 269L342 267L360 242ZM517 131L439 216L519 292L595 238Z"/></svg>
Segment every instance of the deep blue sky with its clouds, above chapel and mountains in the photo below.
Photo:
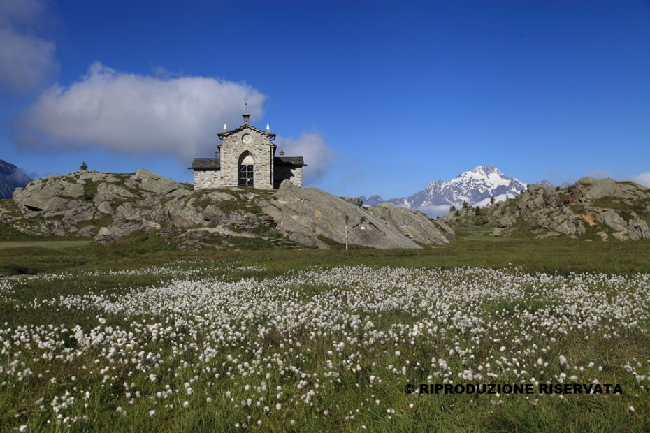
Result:
<svg viewBox="0 0 650 433"><path fill-rule="evenodd" d="M489 164L650 186L649 1L0 0L0 158L192 181L270 124L305 186L409 196Z"/></svg>

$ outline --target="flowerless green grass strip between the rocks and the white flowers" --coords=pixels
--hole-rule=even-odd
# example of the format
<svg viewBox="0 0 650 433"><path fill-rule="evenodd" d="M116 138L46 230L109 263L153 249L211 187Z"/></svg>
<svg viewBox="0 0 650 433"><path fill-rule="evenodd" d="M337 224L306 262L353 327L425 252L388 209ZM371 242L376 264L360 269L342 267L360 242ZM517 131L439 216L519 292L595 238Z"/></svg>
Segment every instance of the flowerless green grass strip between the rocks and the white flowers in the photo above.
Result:
<svg viewBox="0 0 650 433"><path fill-rule="evenodd" d="M73 247L79 238L61 240L24 235L26 243L0 247L0 272L10 272L21 265L34 272L72 270L131 269L141 265L201 258L222 260L236 257L245 265L266 263L279 272L303 269L312 265L400 266L400 267L521 267L527 272L604 272L625 274L650 272L650 242L585 242L557 237L534 238L493 237L491 230L458 230L458 237L447 247L419 250L375 250L354 246L345 251L342 244L328 242L331 249L301 249L300 253L271 247L266 240L245 237L219 237L215 243L227 241L228 250L203 249L178 251L154 235L134 233L124 240L103 247ZM50 243L53 242L53 243ZM60 245L57 244L60 242ZM68 244L73 242L73 244ZM80 242L84 242L81 240ZM87 242L87 240L85 240ZM0 243L3 246L3 243ZM290 246L290 245L289 245ZM233 251L240 249L240 251ZM133 260L137 257L137 260Z"/></svg>

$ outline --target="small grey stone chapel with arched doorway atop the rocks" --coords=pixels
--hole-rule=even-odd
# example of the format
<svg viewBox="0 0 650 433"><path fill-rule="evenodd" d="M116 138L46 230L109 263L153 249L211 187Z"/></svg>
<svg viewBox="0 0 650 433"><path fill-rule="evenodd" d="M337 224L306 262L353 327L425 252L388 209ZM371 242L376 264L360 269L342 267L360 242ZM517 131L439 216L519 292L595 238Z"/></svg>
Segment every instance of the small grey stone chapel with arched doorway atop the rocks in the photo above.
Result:
<svg viewBox="0 0 650 433"><path fill-rule="evenodd" d="M222 186L251 186L259 189L277 189L283 180L289 179L303 186L302 156L275 156L277 147L270 133L257 129L249 123L250 114L244 110L244 123L232 131L226 129L217 134L222 142L217 145L219 155L215 158L194 158L194 188L220 188Z"/></svg>

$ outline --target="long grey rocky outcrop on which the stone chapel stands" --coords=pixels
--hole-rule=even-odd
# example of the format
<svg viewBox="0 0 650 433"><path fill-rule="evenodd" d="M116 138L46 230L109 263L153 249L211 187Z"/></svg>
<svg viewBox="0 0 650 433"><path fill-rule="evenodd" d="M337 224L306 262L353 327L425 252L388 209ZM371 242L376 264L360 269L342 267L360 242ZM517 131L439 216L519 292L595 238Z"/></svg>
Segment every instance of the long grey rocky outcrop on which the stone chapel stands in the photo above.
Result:
<svg viewBox="0 0 650 433"><path fill-rule="evenodd" d="M445 245L454 232L419 212L392 205L361 207L359 199L332 196L284 182L278 191L229 187L192 191L152 173L80 170L35 180L13 195L0 219L24 233L94 236L106 244L136 231L165 237L182 248L230 246L228 238L262 237L273 244L328 248L345 242L374 248ZM366 230L358 222L365 219Z"/></svg>

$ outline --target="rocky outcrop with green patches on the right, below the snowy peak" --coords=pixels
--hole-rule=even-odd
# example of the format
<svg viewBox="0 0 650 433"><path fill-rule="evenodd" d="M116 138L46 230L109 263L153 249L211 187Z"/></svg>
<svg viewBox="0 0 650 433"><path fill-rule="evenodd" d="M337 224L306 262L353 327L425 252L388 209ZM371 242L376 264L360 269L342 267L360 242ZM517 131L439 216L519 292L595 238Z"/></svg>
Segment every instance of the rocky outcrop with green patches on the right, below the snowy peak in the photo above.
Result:
<svg viewBox="0 0 650 433"><path fill-rule="evenodd" d="M565 189L529 185L517 198L479 212L452 212L442 221L451 226L491 226L494 235L529 230L537 237L650 239L650 189L593 177Z"/></svg>

